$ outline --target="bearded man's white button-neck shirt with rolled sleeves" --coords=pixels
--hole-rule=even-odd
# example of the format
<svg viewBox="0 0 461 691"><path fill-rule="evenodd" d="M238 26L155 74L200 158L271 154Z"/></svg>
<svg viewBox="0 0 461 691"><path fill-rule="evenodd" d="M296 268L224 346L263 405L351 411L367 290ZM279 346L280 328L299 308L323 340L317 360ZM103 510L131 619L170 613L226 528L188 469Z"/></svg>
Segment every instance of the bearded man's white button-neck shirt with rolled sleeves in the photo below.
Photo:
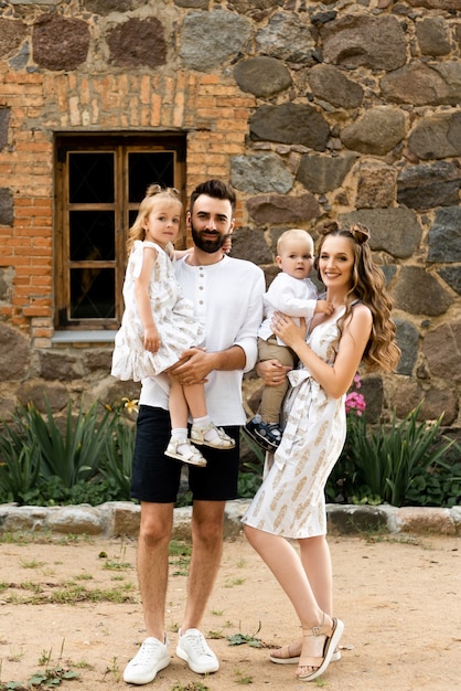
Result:
<svg viewBox="0 0 461 691"><path fill-rule="evenodd" d="M256 364L256 336L262 319L266 289L262 270L244 259L224 256L204 266L186 264L187 255L174 263L182 294L194 305L194 315L204 327L201 347L219 352L239 346L246 358L243 370L214 370L205 384L206 406L215 425L243 425L242 379ZM168 410L167 374L142 380L139 403Z"/></svg>

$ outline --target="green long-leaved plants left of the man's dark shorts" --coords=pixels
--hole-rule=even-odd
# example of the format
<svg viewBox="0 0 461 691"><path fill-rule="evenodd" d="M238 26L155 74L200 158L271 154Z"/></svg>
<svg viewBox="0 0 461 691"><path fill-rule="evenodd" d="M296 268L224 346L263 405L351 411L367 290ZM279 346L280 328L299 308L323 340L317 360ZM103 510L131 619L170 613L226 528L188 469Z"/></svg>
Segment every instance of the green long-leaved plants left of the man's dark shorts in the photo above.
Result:
<svg viewBox="0 0 461 691"><path fill-rule="evenodd" d="M103 503L128 500L135 428L122 413L136 410L97 403L73 411L68 403L63 429L46 402L42 415L34 405L18 404L0 434L0 501L20 504ZM128 405L129 404L129 405Z"/></svg>

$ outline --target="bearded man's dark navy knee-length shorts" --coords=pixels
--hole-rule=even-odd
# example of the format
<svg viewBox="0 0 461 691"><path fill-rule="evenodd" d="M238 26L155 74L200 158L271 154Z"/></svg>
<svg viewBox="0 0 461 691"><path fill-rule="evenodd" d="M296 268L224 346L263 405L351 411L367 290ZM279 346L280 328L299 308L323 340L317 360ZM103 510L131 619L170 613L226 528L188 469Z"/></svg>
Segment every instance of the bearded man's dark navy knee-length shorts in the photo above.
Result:
<svg viewBox="0 0 461 691"><path fill-rule="evenodd" d="M226 501L237 497L239 427L224 427L235 448L218 450L200 446L206 468L187 466L193 499ZM170 414L141 405L138 414L132 467L131 497L139 501L174 503L183 464L164 455L171 435Z"/></svg>

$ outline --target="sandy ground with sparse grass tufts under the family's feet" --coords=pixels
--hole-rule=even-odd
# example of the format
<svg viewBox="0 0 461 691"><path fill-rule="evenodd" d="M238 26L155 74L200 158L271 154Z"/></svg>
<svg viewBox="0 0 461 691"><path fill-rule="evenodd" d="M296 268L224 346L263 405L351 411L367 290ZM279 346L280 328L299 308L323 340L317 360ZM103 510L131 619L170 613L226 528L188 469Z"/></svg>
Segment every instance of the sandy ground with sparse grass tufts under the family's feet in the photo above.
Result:
<svg viewBox="0 0 461 691"><path fill-rule="evenodd" d="M299 628L271 574L239 538L225 543L202 626L221 660L219 671L194 674L174 655L185 575L183 564L172 557L167 619L171 665L144 688L461 688L460 540L335 536L330 545L336 614L345 632L342 660L331 663L320 680L307 687L294 678L294 666L268 660L267 648L296 640ZM64 690L130 688L122 670L144 638L135 559L136 541L127 540L1 543L0 689L56 667L79 674L78 680L63 681ZM61 602L75 592L82 592L78 602ZM226 637L236 634L258 638L262 647L232 646Z"/></svg>

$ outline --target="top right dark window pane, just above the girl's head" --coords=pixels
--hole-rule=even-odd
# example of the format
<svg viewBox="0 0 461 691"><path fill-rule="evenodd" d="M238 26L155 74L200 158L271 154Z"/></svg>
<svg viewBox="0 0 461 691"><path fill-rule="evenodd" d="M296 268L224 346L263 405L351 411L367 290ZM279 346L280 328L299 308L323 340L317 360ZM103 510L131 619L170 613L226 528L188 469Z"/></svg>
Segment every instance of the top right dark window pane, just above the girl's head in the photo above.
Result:
<svg viewBox="0 0 461 691"><path fill-rule="evenodd" d="M174 155L171 151L130 152L128 153L128 171L129 202L139 203L146 196L146 190L150 184L174 187Z"/></svg>

